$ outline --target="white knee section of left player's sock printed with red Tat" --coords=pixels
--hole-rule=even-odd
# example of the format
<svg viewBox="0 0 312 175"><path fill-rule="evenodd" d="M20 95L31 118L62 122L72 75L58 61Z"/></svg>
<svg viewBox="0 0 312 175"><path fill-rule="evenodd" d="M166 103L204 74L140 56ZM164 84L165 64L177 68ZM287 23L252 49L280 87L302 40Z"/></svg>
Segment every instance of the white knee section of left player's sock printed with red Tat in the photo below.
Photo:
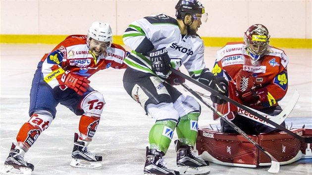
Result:
<svg viewBox="0 0 312 175"><path fill-rule="evenodd" d="M85 116L101 117L104 105L103 94L98 91L92 91L81 100L80 108L84 110Z"/></svg>

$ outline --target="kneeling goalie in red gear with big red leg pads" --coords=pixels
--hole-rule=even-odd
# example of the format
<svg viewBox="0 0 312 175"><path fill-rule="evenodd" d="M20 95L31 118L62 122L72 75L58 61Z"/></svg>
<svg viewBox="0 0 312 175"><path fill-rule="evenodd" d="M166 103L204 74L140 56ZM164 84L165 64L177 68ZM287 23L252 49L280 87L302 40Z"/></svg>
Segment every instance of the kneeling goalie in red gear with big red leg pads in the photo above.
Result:
<svg viewBox="0 0 312 175"><path fill-rule="evenodd" d="M244 42L227 43L217 51L212 73L228 80L229 98L275 116L282 111L278 101L285 96L288 89L289 59L283 50L268 45L269 39L265 26L252 25L244 34ZM300 140L287 137L287 134L282 134L276 128L240 115L237 107L231 103L214 105L239 129L257 140L260 146L272 150L279 162L289 164L300 158ZM218 117L216 116L213 116L214 119ZM220 123L221 132L209 129L199 131L197 150L202 158L230 166L256 167L263 163L269 165L270 160L265 156L263 158L263 153L253 144L244 142L246 138L242 135L233 134L237 132L223 120ZM285 127L284 122L281 125ZM279 138L285 140L280 141ZM281 152L281 147L286 147L285 143L287 152Z"/></svg>

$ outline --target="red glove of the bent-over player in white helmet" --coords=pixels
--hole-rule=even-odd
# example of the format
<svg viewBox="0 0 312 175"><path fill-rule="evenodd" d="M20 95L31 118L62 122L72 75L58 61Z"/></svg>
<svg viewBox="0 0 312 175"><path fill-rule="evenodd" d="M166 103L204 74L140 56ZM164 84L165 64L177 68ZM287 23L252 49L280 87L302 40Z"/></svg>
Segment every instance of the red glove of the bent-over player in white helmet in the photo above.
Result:
<svg viewBox="0 0 312 175"><path fill-rule="evenodd" d="M66 88L74 89L79 95L83 95L90 87L90 81L78 74L66 71L61 78L59 88L65 90Z"/></svg>

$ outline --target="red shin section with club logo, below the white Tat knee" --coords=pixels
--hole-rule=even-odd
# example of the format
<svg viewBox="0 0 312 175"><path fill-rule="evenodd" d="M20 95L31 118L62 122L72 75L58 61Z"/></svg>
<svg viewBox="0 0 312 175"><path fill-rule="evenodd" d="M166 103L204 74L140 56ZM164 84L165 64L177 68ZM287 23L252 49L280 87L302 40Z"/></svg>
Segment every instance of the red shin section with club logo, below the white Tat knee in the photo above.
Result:
<svg viewBox="0 0 312 175"><path fill-rule="evenodd" d="M79 122L79 139L91 141L98 129L100 117L89 117L82 115Z"/></svg>

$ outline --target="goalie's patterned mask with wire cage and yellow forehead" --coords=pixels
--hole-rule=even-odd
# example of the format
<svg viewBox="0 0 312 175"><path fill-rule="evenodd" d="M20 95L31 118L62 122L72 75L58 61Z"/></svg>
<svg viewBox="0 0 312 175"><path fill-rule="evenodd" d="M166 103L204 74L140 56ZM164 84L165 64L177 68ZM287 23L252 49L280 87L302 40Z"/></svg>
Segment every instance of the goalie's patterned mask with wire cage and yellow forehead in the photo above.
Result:
<svg viewBox="0 0 312 175"><path fill-rule="evenodd" d="M253 65L257 65L260 57L266 51L270 35L262 24L254 24L247 29L244 35L245 49L250 55Z"/></svg>

